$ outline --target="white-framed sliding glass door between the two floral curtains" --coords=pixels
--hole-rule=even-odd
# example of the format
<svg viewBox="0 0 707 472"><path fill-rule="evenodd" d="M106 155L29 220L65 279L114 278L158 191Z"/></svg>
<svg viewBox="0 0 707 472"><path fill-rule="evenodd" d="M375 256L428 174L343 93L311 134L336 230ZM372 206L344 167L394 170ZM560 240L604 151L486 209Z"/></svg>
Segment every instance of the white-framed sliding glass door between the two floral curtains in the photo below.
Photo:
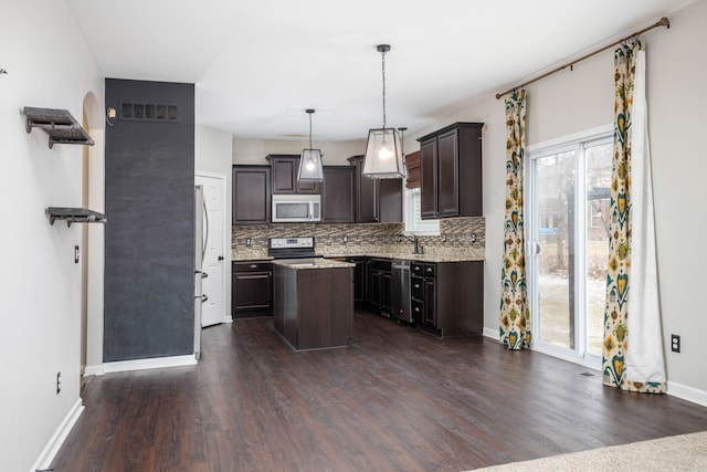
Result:
<svg viewBox="0 0 707 472"><path fill-rule="evenodd" d="M529 283L534 348L601 360L611 137L531 149Z"/></svg>

